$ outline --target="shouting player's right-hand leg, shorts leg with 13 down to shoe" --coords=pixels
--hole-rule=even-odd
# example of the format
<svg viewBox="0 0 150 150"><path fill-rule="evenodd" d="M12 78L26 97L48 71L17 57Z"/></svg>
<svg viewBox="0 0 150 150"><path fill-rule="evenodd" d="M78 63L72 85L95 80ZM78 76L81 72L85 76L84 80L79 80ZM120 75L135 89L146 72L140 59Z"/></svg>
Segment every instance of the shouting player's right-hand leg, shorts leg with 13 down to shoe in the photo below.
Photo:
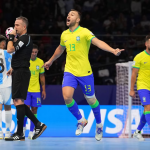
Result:
<svg viewBox="0 0 150 150"><path fill-rule="evenodd" d="M94 77L93 74L85 77L77 77L80 87L84 93L84 96L91 106L93 114L96 119L96 140L101 140L102 138L102 123L101 123L101 114L100 114L100 105L99 101L95 97L94 91Z"/></svg>

